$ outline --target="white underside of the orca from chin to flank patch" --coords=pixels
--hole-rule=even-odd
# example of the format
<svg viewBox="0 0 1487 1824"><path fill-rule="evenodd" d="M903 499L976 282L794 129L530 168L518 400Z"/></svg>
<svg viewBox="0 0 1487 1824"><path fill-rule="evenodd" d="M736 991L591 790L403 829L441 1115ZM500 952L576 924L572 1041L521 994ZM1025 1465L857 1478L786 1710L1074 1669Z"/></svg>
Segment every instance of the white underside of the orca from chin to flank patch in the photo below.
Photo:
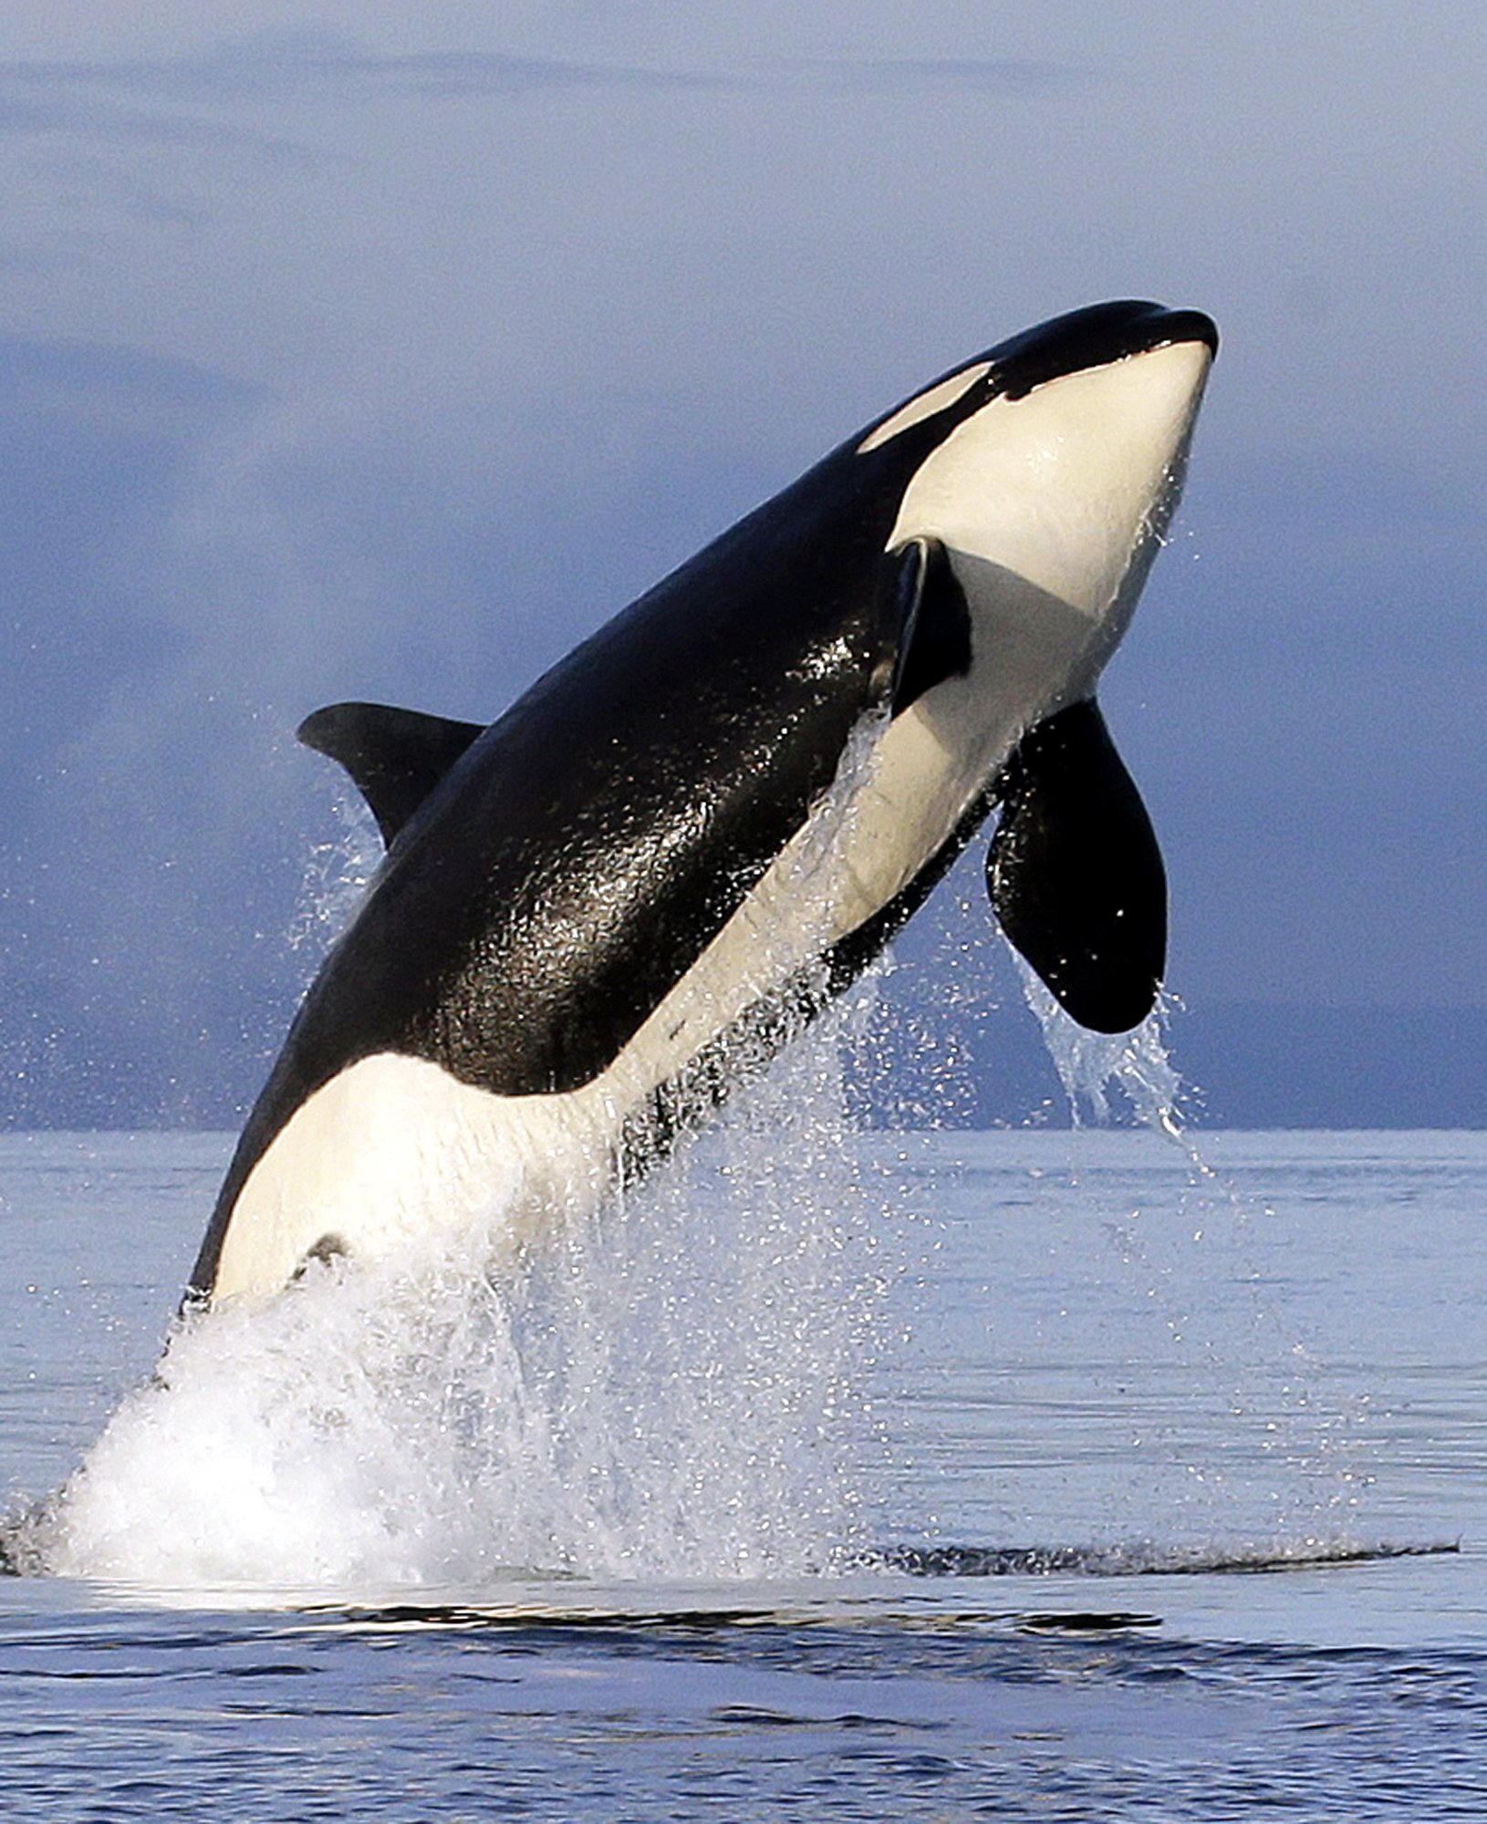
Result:
<svg viewBox="0 0 1487 1824"><path fill-rule="evenodd" d="M323 1238L378 1259L432 1228L484 1222L500 1257L555 1209L597 1202L626 1116L889 905L1029 722L1093 689L1206 368L1199 345L1133 356L993 401L952 432L907 489L890 545L932 534L949 547L972 615L969 677L863 724L806 826L582 1089L493 1096L394 1054L317 1089L243 1186L213 1299L281 1290Z"/></svg>

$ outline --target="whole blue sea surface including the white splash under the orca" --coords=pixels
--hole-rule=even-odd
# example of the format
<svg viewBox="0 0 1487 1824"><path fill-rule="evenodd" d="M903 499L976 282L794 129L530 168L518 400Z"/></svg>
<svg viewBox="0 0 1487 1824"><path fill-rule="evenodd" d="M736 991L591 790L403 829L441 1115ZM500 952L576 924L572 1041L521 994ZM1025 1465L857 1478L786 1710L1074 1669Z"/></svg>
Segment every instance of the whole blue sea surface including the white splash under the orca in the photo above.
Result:
<svg viewBox="0 0 1487 1824"><path fill-rule="evenodd" d="M228 1149L0 1136L0 1815L1487 1815L1487 1135L744 1116L161 1361Z"/></svg>

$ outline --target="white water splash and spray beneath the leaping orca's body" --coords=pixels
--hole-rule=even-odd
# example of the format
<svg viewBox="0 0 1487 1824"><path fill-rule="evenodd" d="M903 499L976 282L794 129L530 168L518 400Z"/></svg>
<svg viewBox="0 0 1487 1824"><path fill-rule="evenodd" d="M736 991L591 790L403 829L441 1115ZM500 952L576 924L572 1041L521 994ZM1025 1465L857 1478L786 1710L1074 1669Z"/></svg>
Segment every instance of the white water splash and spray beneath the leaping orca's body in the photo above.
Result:
<svg viewBox="0 0 1487 1824"><path fill-rule="evenodd" d="M883 1270L832 1025L513 1271L467 1233L182 1324L40 1523L47 1569L478 1591L850 1556Z"/></svg>

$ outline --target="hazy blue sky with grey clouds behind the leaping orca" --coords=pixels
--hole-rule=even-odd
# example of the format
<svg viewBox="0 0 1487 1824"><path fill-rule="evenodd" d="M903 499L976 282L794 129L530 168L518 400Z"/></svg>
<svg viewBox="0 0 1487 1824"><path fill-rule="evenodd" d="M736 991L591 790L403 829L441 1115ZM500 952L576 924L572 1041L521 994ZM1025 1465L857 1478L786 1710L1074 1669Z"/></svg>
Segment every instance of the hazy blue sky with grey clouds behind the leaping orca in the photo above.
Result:
<svg viewBox="0 0 1487 1824"><path fill-rule="evenodd" d="M1173 987L1487 1009L1483 67L1465 4L7 7L7 1067L250 1093L305 711L493 717L1113 295L1224 334L1104 693Z"/></svg>

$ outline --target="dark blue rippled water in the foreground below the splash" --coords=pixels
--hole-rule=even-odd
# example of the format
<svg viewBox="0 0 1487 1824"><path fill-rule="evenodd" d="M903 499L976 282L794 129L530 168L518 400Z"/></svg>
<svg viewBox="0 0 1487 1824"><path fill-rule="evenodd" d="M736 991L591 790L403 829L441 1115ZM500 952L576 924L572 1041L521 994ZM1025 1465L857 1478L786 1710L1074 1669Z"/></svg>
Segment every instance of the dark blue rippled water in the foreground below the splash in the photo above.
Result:
<svg viewBox="0 0 1487 1824"><path fill-rule="evenodd" d="M5 1618L5 1786L49 1819L1482 1815L1476 1651L874 1607L558 1625L35 1605Z"/></svg>

